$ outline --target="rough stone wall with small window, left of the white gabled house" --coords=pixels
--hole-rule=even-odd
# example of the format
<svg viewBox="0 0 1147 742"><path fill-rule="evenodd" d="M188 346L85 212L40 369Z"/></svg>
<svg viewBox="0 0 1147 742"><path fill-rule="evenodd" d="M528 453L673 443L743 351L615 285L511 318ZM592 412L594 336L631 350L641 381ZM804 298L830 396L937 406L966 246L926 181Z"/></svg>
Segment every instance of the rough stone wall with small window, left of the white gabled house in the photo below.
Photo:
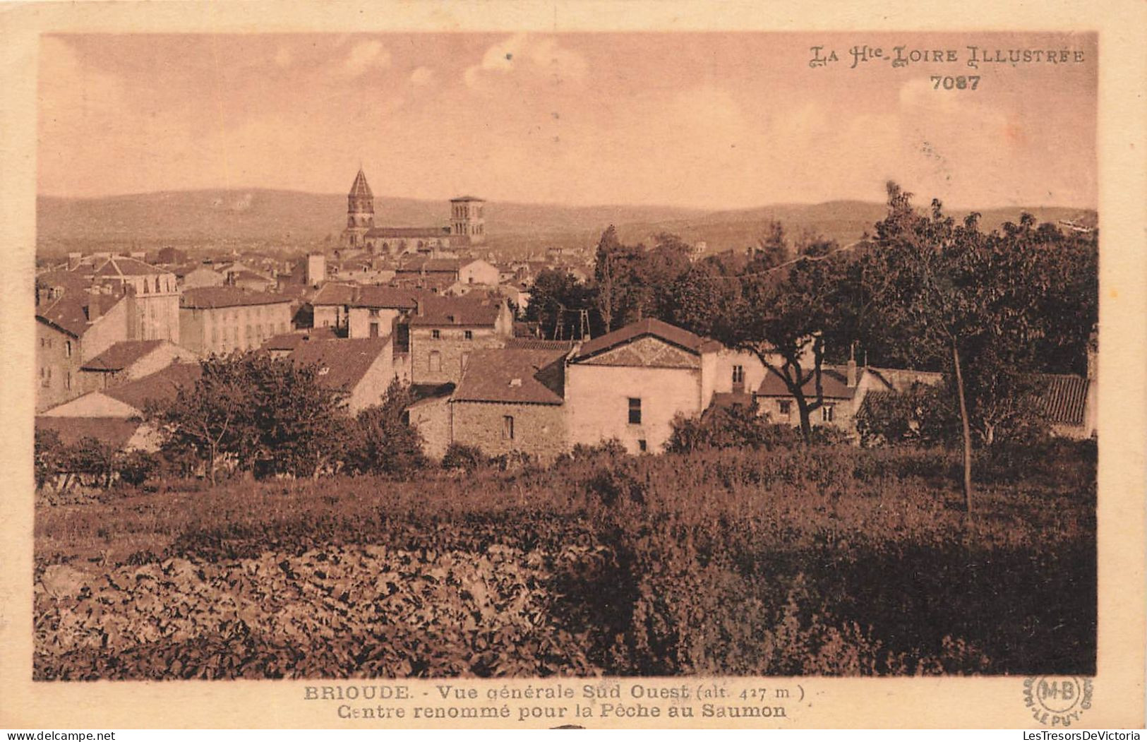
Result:
<svg viewBox="0 0 1147 742"><path fill-rule="evenodd" d="M551 463L568 447L563 405L452 401L457 443L477 446L486 455L521 451ZM505 437L505 417L514 419L514 438Z"/></svg>

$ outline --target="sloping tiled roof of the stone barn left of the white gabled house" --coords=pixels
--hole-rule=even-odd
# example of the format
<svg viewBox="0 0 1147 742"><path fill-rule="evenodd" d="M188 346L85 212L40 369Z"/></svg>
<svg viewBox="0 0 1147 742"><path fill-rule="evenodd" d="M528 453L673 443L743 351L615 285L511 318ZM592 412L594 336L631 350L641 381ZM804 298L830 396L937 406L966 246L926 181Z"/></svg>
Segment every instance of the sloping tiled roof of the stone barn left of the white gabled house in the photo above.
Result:
<svg viewBox="0 0 1147 742"><path fill-rule="evenodd" d="M492 349L470 353L453 401L560 405L564 350Z"/></svg>

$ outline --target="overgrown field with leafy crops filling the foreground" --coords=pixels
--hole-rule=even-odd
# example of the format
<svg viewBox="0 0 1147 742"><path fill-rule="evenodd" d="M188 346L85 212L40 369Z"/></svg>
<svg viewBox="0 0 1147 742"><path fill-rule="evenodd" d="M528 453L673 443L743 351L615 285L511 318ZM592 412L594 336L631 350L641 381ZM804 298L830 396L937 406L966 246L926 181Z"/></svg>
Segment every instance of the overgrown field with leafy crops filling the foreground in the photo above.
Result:
<svg viewBox="0 0 1147 742"><path fill-rule="evenodd" d="M40 500L38 679L1086 674L1095 446L716 451Z"/></svg>

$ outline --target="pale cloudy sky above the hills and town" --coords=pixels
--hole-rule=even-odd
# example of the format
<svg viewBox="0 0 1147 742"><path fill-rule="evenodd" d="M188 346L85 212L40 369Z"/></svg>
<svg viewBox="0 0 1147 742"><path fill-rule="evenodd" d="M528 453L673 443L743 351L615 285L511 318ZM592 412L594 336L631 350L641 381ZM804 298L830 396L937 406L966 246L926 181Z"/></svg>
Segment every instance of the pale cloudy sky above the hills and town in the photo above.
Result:
<svg viewBox="0 0 1147 742"><path fill-rule="evenodd" d="M959 61L850 69L858 45ZM974 70L968 45L1084 61ZM38 85L53 196L345 193L361 165L375 195L428 200L718 210L879 202L891 179L951 206L1098 201L1089 34L45 36Z"/></svg>

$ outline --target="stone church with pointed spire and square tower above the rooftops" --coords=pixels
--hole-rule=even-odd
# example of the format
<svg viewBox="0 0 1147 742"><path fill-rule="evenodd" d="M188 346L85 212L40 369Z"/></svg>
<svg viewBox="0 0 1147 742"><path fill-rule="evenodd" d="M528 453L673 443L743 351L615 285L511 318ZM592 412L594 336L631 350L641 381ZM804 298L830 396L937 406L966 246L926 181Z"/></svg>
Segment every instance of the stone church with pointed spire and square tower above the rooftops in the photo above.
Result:
<svg viewBox="0 0 1147 742"><path fill-rule="evenodd" d="M450 224L440 227L385 227L374 222L374 194L359 167L346 194L346 228L342 247L366 250L372 255L401 256L435 252L485 240L485 201L459 196L450 201Z"/></svg>

